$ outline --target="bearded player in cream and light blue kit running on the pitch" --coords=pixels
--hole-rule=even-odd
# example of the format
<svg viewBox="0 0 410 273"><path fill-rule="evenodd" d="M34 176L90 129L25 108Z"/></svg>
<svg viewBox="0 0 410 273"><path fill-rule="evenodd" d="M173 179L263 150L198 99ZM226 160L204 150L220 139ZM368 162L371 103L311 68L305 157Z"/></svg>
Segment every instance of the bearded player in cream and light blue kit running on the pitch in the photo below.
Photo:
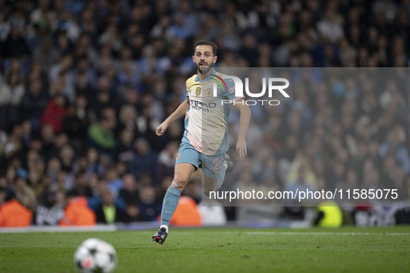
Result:
<svg viewBox="0 0 410 273"><path fill-rule="evenodd" d="M169 124L185 116L185 132L176 159L174 177L162 203L160 229L153 241L163 244L182 190L189 177L198 168L203 170L203 193L209 195L221 187L225 173L233 165L228 151L229 107L222 100L230 100L240 111L237 153L240 159L247 154L245 136L250 121L250 109L245 103L236 103L244 97L235 97L233 80L223 80L223 74L213 68L218 57L214 42L199 40L194 44L192 60L197 74L187 80L187 99L157 127L156 134L164 134ZM223 82L223 85L216 85ZM216 92L214 89L216 87Z"/></svg>

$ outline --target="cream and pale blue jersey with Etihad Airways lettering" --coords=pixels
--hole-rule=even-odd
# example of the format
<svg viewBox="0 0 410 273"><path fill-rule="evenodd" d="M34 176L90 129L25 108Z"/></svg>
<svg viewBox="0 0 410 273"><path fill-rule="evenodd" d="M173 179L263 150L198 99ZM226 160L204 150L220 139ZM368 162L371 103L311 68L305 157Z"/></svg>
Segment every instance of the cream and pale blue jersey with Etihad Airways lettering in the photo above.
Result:
<svg viewBox="0 0 410 273"><path fill-rule="evenodd" d="M229 104L243 98L235 97L234 81L223 76L212 69L205 80L198 75L187 80L189 108L182 141L203 155L223 155L228 150Z"/></svg>

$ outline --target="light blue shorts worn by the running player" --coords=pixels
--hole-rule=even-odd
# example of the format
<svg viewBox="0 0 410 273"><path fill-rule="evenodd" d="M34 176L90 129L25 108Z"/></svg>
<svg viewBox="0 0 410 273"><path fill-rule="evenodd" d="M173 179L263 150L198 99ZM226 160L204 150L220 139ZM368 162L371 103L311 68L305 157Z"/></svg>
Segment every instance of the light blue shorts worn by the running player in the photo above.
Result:
<svg viewBox="0 0 410 273"><path fill-rule="evenodd" d="M203 174L211 179L216 179L219 177L219 173L221 173L223 162L225 162L225 153L220 155L203 155L191 144L181 142L175 164L189 163L197 170L201 162Z"/></svg>

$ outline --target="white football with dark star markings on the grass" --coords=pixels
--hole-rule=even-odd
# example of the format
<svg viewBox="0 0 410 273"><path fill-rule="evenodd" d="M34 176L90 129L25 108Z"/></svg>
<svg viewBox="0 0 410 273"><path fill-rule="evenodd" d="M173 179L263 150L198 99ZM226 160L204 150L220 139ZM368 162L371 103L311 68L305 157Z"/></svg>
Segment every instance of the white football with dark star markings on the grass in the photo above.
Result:
<svg viewBox="0 0 410 273"><path fill-rule="evenodd" d="M74 253L74 265L80 273L110 273L117 267L117 252L109 243L89 238Z"/></svg>

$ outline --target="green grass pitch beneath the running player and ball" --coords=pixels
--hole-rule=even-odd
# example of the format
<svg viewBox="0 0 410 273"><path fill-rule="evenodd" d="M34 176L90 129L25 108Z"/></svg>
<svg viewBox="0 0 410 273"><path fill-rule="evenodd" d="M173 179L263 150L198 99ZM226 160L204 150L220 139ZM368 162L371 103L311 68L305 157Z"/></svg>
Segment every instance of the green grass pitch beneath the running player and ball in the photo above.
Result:
<svg viewBox="0 0 410 273"><path fill-rule="evenodd" d="M87 238L111 243L116 272L410 272L410 227L171 229L0 234L0 272L76 272Z"/></svg>

